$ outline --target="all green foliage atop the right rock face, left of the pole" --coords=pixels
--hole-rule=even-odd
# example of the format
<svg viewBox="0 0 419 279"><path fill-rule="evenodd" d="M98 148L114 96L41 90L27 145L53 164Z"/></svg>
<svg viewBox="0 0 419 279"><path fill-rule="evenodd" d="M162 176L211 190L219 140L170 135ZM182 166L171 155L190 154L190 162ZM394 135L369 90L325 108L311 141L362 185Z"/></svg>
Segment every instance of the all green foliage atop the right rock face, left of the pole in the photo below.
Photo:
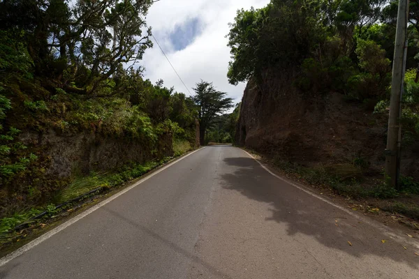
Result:
<svg viewBox="0 0 419 279"><path fill-rule="evenodd" d="M228 33L230 83L260 81L267 68L288 67L297 68L304 92L339 91L360 101L385 97L386 50L395 33L378 22L385 2L272 0L265 8L238 10Z"/></svg>

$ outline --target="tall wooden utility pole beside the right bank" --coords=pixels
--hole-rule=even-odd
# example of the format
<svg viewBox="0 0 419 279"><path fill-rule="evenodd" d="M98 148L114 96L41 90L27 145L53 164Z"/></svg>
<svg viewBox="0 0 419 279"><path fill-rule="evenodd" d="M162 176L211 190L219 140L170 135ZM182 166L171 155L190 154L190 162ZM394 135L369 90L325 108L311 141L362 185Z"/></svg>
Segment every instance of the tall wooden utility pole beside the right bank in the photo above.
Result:
<svg viewBox="0 0 419 279"><path fill-rule="evenodd" d="M385 178L397 188L397 142L399 141L400 98L404 86L404 52L409 13L409 0L399 0L395 40L395 55L392 64L390 114L388 116L387 148L385 149Z"/></svg>

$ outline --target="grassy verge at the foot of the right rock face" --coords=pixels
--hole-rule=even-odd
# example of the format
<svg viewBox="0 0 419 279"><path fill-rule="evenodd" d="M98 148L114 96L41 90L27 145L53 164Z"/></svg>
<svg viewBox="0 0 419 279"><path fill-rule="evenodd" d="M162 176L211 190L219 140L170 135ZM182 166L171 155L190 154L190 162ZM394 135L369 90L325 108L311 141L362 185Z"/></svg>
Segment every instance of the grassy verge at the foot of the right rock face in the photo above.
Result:
<svg viewBox="0 0 419 279"><path fill-rule="evenodd" d="M400 179L402 190L397 191L388 186L384 179L366 178L362 175L362 167L355 163L327 167L321 165L303 167L279 159L272 160L272 163L286 174L291 174L310 185L328 187L335 190L338 195L354 199L368 199L371 204L375 204L374 206L383 211L400 213L419 220L419 204L415 202L418 200L419 183L411 177L402 176Z"/></svg>

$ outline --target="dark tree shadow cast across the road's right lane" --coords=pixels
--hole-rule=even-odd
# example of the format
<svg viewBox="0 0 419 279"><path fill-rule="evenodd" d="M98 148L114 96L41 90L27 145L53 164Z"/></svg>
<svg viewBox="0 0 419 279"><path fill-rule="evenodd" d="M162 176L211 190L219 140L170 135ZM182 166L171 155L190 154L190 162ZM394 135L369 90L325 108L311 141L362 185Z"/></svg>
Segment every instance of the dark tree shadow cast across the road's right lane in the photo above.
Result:
<svg viewBox="0 0 419 279"><path fill-rule="evenodd" d="M306 234L314 236L323 246L354 257L388 257L395 262L406 262L415 269L419 268L418 256L414 255L416 250L404 250L402 246L409 247L406 243L389 239L379 229L277 179L252 158L225 158L224 163L226 167L234 166L236 170L221 174L223 188L270 204L272 216L265 220L285 223L289 236ZM381 243L381 239L387 242ZM349 246L347 241L351 241L353 246Z"/></svg>

